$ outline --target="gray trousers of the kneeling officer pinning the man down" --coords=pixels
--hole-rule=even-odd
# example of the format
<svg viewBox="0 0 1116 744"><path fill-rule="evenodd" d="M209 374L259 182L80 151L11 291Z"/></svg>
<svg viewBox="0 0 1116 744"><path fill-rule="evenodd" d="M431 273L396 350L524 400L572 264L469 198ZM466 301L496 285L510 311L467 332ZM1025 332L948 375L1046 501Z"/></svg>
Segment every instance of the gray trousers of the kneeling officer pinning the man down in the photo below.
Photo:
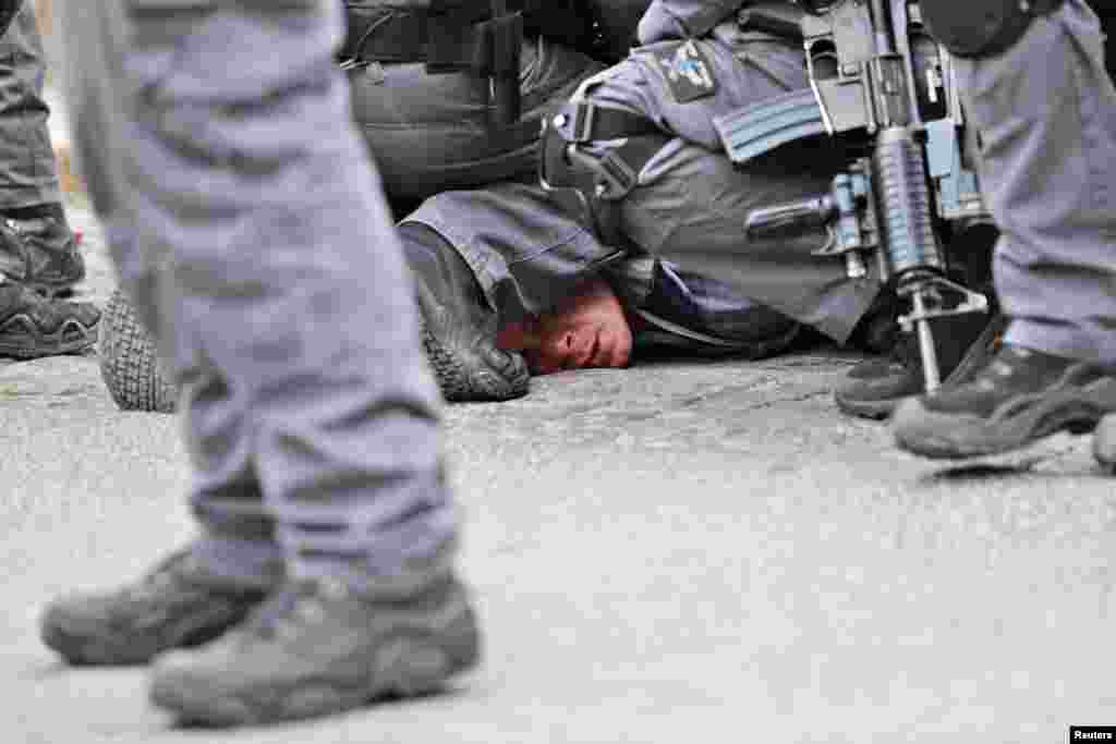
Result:
<svg viewBox="0 0 1116 744"><path fill-rule="evenodd" d="M712 61L716 93L675 104L648 52L589 78L581 97L634 112L662 127L666 144L643 167L622 201L620 226L633 247L613 260L575 215L537 187L504 185L427 200L408 221L453 243L502 312L538 312L567 296L602 261L614 287L638 302L648 289L648 257L729 282L741 297L776 309L844 341L878 291L874 279L850 281L843 262L811 255L826 236L749 241L748 212L828 187L833 171L801 153L776 154L737 168L720 149L712 116L807 85L801 50L722 25L696 42ZM826 158L821 158L825 161Z"/></svg>

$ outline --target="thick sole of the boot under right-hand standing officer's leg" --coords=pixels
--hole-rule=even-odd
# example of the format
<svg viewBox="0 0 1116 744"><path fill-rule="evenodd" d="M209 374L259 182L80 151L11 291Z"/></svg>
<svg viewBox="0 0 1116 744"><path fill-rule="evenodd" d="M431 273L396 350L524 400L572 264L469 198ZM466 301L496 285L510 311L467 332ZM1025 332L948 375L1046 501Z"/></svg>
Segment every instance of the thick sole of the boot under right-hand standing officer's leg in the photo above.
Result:
<svg viewBox="0 0 1116 744"><path fill-rule="evenodd" d="M924 457L962 460L1019 450L1062 431L1088 434L1116 410L1116 379L1057 390L1016 415L1012 408L1001 406L990 418L981 418L941 414L927 409L921 399L911 399L892 417L895 443Z"/></svg>

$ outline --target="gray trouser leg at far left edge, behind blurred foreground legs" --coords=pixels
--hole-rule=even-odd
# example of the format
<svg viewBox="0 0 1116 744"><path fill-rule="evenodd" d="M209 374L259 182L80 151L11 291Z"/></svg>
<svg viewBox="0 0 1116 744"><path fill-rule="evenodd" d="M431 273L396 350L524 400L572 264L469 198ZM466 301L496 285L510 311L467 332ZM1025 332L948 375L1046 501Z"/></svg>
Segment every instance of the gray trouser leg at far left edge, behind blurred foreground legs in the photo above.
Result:
<svg viewBox="0 0 1116 744"><path fill-rule="evenodd" d="M30 0L0 37L0 210L61 199L42 100L46 65Z"/></svg>

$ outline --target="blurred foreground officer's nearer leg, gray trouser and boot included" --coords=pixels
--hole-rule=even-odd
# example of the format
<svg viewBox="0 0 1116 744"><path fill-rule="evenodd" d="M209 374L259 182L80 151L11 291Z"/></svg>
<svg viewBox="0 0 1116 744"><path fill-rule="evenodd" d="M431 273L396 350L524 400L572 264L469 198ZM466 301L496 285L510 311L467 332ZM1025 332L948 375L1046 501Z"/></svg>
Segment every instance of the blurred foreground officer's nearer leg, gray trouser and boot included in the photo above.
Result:
<svg viewBox="0 0 1116 744"><path fill-rule="evenodd" d="M97 8L79 21L107 31ZM233 641L163 658L153 699L193 718L336 711L439 684L477 656L448 562L456 525L436 389L398 243L333 68L338 31L331 3L164 2L133 13L140 54L117 57L126 89L112 103L131 115L132 147L121 164L126 187L109 195L126 192L121 222L162 252L158 290L170 299L158 309L221 376L193 399L195 441L244 453L288 574L243 628L259 641L251 663ZM169 44L174 55L161 54ZM223 415L203 418L214 410ZM244 461L224 462L241 475ZM375 657L398 637L368 619L384 600L425 629L406 634L402 675L389 679ZM354 644L338 648L339 637ZM314 649L298 664L286 646L295 638ZM364 655L371 674L335 685Z"/></svg>

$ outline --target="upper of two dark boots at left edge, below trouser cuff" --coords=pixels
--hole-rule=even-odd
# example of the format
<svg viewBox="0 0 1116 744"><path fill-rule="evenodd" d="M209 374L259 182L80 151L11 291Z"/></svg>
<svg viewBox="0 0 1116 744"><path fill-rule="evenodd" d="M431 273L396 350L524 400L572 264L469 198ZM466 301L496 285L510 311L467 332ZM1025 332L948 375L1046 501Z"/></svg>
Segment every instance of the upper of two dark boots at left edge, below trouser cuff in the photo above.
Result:
<svg viewBox="0 0 1116 744"><path fill-rule="evenodd" d="M0 216L0 272L48 296L85 279L85 259L60 205Z"/></svg>

